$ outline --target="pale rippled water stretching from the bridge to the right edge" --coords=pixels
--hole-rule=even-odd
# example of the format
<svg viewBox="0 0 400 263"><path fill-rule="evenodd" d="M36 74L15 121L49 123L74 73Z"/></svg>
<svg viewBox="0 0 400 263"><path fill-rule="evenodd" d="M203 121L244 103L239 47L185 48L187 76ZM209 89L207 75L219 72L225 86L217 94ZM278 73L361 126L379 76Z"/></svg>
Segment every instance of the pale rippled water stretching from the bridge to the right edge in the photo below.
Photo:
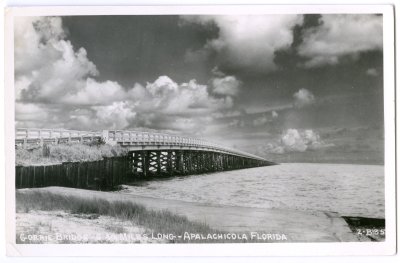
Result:
<svg viewBox="0 0 400 263"><path fill-rule="evenodd" d="M384 167L281 164L128 186L135 195L213 205L338 212L384 218Z"/></svg>

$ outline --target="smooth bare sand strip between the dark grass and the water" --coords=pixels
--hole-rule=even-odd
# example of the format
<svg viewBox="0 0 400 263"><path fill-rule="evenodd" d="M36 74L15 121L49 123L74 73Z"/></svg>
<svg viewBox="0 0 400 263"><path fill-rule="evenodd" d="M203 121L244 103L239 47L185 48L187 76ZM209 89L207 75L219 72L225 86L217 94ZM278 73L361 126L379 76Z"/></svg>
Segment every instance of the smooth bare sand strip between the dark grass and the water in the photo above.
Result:
<svg viewBox="0 0 400 263"><path fill-rule="evenodd" d="M102 199L108 202L137 203L149 211L169 211L173 215L187 218L190 222L207 225L211 229L227 233L255 231L265 235L279 234L280 237L285 235L287 238L287 240L284 240L285 242L371 241L357 237L356 233L337 213L215 206L115 192L98 192L62 187L17 190L19 193L34 191L87 200ZM272 240L271 242L282 242L282 240Z"/></svg>

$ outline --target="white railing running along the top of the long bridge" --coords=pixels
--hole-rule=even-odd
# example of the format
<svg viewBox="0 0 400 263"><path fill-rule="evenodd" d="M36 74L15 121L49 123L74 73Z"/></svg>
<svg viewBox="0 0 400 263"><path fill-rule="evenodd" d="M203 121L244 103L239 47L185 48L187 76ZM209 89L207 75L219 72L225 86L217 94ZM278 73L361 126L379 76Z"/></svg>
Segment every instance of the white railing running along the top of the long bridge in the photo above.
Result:
<svg viewBox="0 0 400 263"><path fill-rule="evenodd" d="M63 129L32 129L18 128L15 132L16 143L26 143L27 140L78 140L103 139L106 142L114 142L122 145L158 145L158 146L183 146L197 147L208 150L220 151L228 154L240 155L243 157L266 161L259 156L232 149L223 145L209 142L202 139L177 136L157 132L125 131L125 130L103 130L103 131L75 131Z"/></svg>

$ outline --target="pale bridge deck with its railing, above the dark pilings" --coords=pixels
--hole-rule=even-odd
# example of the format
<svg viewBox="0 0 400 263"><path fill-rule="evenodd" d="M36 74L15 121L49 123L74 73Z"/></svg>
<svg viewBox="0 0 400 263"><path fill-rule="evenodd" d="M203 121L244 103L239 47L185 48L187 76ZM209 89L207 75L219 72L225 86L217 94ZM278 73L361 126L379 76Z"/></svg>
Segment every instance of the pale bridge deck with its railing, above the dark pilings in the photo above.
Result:
<svg viewBox="0 0 400 263"><path fill-rule="evenodd" d="M103 140L109 144L119 144L136 150L198 150L225 153L234 156L267 161L259 156L232 149L202 139L177 136L164 133L103 130L76 131L61 129L18 128L15 133L15 144L19 147L40 144L58 144L73 142L90 142Z"/></svg>

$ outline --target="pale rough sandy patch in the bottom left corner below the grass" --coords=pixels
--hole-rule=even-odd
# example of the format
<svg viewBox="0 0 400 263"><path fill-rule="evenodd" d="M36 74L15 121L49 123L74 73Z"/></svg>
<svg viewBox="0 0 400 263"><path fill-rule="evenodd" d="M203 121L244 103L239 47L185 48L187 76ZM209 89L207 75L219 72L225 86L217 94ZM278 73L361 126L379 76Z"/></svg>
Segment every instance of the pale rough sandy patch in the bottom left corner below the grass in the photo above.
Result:
<svg viewBox="0 0 400 263"><path fill-rule="evenodd" d="M59 211L17 213L17 243L96 244L162 243L146 229L110 216L79 215Z"/></svg>

